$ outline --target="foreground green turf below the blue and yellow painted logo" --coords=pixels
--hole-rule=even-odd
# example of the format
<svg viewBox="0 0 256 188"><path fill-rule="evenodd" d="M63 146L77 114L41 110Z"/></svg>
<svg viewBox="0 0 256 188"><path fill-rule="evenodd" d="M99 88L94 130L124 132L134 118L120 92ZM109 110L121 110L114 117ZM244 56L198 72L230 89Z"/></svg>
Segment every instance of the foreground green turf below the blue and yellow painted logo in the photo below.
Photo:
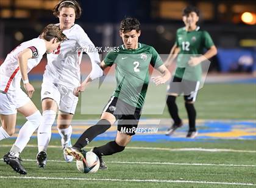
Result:
<svg viewBox="0 0 256 188"><path fill-rule="evenodd" d="M12 143L13 139L1 141L0 156L9 151ZM255 141L132 142L124 152L105 156L108 169L99 170L95 174L80 173L76 170L75 163L64 162L59 140L51 141L51 147L48 149L49 162L45 169L38 169L35 164L36 140L32 139L29 144L30 147L26 147L21 155L27 175L18 175L10 166L0 161L1 187L247 187L250 186L249 184L256 185ZM97 141L91 143L89 147L100 144L102 142ZM215 149L215 152L172 150L184 148L187 150L189 148ZM32 179L24 179L29 177Z"/></svg>

